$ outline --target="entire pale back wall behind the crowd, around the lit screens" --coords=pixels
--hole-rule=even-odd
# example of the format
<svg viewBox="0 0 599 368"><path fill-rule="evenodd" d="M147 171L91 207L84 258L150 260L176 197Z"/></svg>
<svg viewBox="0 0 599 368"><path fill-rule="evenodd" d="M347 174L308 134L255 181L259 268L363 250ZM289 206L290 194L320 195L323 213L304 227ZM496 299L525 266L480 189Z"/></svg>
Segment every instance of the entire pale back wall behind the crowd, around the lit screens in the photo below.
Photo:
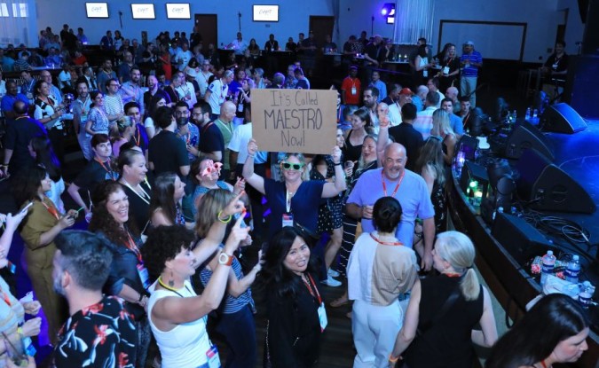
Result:
<svg viewBox="0 0 599 368"><path fill-rule="evenodd" d="M30 0L31 1L31 0ZM59 31L63 23L71 27L83 27L91 43L99 43L107 29L121 29L126 38L141 38L141 31L147 30L148 37L154 37L162 30L186 31L193 27L193 20L166 20L165 3L177 3L179 0L154 0L156 20L132 20L130 3L143 3L147 0L105 0L108 3L110 19L88 20L85 17L83 0L37 0L37 27L51 26ZM189 1L189 0L188 0ZM218 14L218 43L229 43L238 30L237 13L241 12L241 31L244 38L256 38L262 45L273 33L280 43L288 36L297 39L299 32L307 32L310 15L333 15L331 2L335 0L279 0L258 1L257 4L280 4L280 21L278 23L253 22L251 4L247 0L190 1L191 12ZM391 37L393 26L385 23L380 15L382 4L393 0L338 0L340 2L340 39L335 40L343 45L349 35L359 35L366 30L371 35L371 17L374 16L374 34ZM547 59L549 48L553 48L556 38L556 27L563 22L563 13L569 8L568 25L566 27L566 51L573 54L577 51L576 42L582 39L583 25L580 22L577 0L436 0L435 27L430 43L437 47L438 27L440 20L485 20L504 22L525 22L528 24L526 43L524 45L524 61L538 62L539 58ZM118 12L122 12L122 28ZM192 16L193 18L193 16ZM461 44L466 40L454 40ZM415 42L415 40L414 40ZM483 55L485 57L485 55Z"/></svg>

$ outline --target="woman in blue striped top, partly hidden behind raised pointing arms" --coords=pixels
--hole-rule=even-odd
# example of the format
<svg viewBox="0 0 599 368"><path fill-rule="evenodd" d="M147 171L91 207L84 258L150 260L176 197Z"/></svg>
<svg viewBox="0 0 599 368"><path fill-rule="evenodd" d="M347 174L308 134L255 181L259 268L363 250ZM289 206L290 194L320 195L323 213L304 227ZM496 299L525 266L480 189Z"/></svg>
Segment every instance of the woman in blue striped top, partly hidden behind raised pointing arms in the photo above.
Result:
<svg viewBox="0 0 599 368"><path fill-rule="evenodd" d="M209 228L218 221L219 214L234 197L232 192L224 189L215 189L203 196L195 223L196 234L200 239L208 235ZM248 239L244 239L242 245L248 244L247 241ZM222 251L224 246L221 244L220 247ZM260 257L261 253L258 252L258 260ZM203 286L208 285L217 267L218 257L217 254L213 254L206 267L200 272ZM218 310L216 318L216 331L225 336L229 347L225 364L227 367L253 367L256 365L256 325L253 316L255 307L249 286L256 279L256 273L259 270L260 262L247 275L244 275L240 262L233 257L225 302Z"/></svg>

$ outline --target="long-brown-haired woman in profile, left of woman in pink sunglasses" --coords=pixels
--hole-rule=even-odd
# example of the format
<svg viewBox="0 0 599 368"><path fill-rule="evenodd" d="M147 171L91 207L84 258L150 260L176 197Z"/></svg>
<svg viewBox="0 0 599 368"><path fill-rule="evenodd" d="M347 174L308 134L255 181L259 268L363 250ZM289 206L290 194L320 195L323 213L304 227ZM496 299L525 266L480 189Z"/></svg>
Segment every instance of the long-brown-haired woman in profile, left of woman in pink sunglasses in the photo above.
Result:
<svg viewBox="0 0 599 368"><path fill-rule="evenodd" d="M175 173L162 173L154 180L150 201L152 226L185 225L181 200L185 195L185 183ZM191 224L190 226L193 226Z"/></svg>

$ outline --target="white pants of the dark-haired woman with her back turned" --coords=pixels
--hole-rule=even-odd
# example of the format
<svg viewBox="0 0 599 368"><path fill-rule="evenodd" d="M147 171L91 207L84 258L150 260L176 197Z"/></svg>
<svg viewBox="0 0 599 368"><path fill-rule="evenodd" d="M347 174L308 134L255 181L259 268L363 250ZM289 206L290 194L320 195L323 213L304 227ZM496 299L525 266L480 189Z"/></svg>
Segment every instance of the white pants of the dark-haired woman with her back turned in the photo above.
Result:
<svg viewBox="0 0 599 368"><path fill-rule="evenodd" d="M353 367L388 368L389 355L403 322L404 312L398 301L387 307L354 301L351 332L358 354Z"/></svg>

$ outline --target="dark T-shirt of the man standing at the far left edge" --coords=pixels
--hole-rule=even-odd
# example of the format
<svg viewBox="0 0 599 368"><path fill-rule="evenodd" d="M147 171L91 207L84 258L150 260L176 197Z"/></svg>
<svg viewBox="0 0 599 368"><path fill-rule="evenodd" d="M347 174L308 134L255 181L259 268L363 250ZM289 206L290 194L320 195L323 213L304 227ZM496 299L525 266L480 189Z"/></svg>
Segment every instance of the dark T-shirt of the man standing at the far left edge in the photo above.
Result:
<svg viewBox="0 0 599 368"><path fill-rule="evenodd" d="M29 141L35 136L46 136L46 129L39 121L31 118L18 118L9 120L4 137L4 148L12 150L9 170L11 175L16 174L20 168L27 168L34 163L29 154Z"/></svg>

